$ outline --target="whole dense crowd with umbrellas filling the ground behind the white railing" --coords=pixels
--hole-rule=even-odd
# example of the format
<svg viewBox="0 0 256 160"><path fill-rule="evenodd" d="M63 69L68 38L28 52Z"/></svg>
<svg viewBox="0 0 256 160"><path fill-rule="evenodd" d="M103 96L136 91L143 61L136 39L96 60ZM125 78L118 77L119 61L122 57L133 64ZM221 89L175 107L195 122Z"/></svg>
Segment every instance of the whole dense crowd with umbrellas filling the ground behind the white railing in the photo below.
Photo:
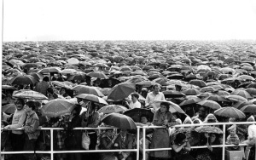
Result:
<svg viewBox="0 0 256 160"><path fill-rule="evenodd" d="M134 51L136 54L128 54L124 58L121 56L119 59L108 57L108 62L99 65L99 60L103 59L102 54L87 49L90 59L95 60L96 64L91 65L92 61L82 59L84 57L82 55L86 52L79 53L79 49L67 49L66 53L57 52L55 49L55 53L58 55L48 54L48 56L59 60L59 62L47 63L47 60L43 59L45 54L53 50L54 47L48 47L48 45L53 46L51 43L42 44L44 48L34 47L34 50L33 44L30 44L30 47L25 46L24 50L20 49L19 51L14 49L16 45L20 47L20 44L17 43L3 45L3 51L11 56L7 54L3 58L1 151L50 151L49 131L40 129L62 128L54 130L52 138L54 151L136 149L137 134L139 134L139 159L143 159L143 142L147 149L172 148L172 150L164 151L147 151L147 160L218 160L222 159L223 154L227 155L229 151L241 151L242 159L245 160L255 159L256 125L233 124L233 122L255 122L256 110L254 108L256 105L254 102L256 99L253 99L253 96L256 95L256 74L255 61L250 60L255 57L251 56L253 55L251 52L244 52L245 60L235 56L241 54L227 57L220 51L211 52L206 58L204 57L206 54L203 54L203 51L208 49L206 44L202 44L206 50L198 49L192 52L190 48L193 45L189 48L189 44L187 44L188 46L181 47L183 52L177 49L178 52L172 53L171 50L176 49L173 44L173 49L170 48L170 52L167 52L169 57L165 57L166 52L163 49L166 48L155 44L152 46L151 54L154 57L161 55L172 61L160 58L155 58L156 61L151 60L152 56L149 53L148 55L144 54L144 59L139 59L136 56L143 51L140 50ZM106 43L104 45L110 48L113 44ZM237 49L241 48L240 45L236 45ZM10 49L11 46L12 49ZM230 47L230 49L233 48ZM209 50L207 51L209 52ZM19 60L22 59L20 57L25 55L29 57L30 54L35 53L41 57L41 61L33 63L38 65L26 66L32 64L32 61L29 61L31 57L28 60L23 57L24 64L20 65ZM80 62L69 66L65 65L67 62L71 63L69 60L70 58L74 59L74 54L80 54L75 56L80 58ZM63 57L60 55L66 58L67 62L61 59ZM218 56L213 59L213 55ZM32 60L35 59L32 58ZM131 63L125 63L125 60ZM64 62L62 63L62 61ZM85 62L87 62L87 66L82 65ZM44 69L52 69L55 68L54 66L60 67L61 70L43 74ZM65 72L67 68L71 72ZM106 77L92 76L91 72L101 73ZM15 83L15 78L27 75L31 75L30 78L38 76L38 79L35 78L29 84ZM20 79L21 81L22 79ZM136 88L129 96L127 95L121 100L109 100L108 94L111 89L124 82L132 83ZM115 127L102 123L102 118L107 114L100 109L106 104L77 97L79 94L89 94L74 90L79 85L100 90L102 95L107 96L98 95L97 97L102 97L108 102L108 105L124 106L125 111L136 108L148 109L147 111L151 111L151 114L140 115L139 121L135 122L136 125L161 126L162 128L146 129L146 137L143 137L143 129L140 129L139 133L132 129L74 129ZM15 96L18 92L26 90L44 94L48 100L32 100L32 98L17 98ZM236 96L229 99L230 95ZM58 99L72 102L74 104L72 111L56 117L45 115L44 106L52 100ZM211 102L211 106L201 105L199 102L203 100ZM247 107L245 108L245 106ZM6 108L14 109L8 111ZM247 108L250 108L250 111L247 111ZM230 109L230 111L219 114L218 110L221 109ZM125 111L119 111L119 113L125 114ZM199 132L198 129L201 126L174 127L177 124L198 123L211 123L203 127L217 128L217 130L224 128L222 125L213 125L212 123L230 123L230 125L227 125L224 130L225 137L223 133L214 131ZM90 138L87 149L82 145L85 134ZM235 146L225 147L225 152L222 147L212 147L222 145L223 140L227 145ZM239 144L247 144L247 146L239 146ZM191 149L191 146L207 147ZM43 160L50 159L50 155L6 154L2 158L6 160ZM86 158L133 160L137 158L137 152L56 153L54 158L57 160Z"/></svg>

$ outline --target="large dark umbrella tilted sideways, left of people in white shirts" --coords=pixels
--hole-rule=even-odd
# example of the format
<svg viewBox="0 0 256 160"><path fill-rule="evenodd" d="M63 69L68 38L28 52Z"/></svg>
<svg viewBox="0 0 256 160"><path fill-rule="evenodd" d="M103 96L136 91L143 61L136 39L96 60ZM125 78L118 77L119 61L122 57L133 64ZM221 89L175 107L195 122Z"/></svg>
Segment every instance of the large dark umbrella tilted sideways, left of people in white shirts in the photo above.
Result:
<svg viewBox="0 0 256 160"><path fill-rule="evenodd" d="M122 100L136 90L134 83L119 83L108 92L108 99Z"/></svg>

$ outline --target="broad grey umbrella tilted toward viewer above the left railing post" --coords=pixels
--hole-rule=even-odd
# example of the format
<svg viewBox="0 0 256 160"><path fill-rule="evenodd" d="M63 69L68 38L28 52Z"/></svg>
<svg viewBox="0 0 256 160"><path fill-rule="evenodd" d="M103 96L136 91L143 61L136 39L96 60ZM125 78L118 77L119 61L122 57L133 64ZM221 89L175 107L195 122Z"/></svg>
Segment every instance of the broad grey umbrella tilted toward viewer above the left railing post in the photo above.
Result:
<svg viewBox="0 0 256 160"><path fill-rule="evenodd" d="M42 114L48 117L58 117L73 111L76 105L66 99L49 100L42 108Z"/></svg>

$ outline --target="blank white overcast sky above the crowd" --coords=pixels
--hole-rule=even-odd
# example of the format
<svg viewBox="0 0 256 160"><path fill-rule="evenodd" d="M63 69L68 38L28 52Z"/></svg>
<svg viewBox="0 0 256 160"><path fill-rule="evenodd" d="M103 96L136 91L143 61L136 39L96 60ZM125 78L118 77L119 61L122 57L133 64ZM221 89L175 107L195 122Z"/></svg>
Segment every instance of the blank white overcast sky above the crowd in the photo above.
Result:
<svg viewBox="0 0 256 160"><path fill-rule="evenodd" d="M256 39L256 0L3 0L3 42Z"/></svg>

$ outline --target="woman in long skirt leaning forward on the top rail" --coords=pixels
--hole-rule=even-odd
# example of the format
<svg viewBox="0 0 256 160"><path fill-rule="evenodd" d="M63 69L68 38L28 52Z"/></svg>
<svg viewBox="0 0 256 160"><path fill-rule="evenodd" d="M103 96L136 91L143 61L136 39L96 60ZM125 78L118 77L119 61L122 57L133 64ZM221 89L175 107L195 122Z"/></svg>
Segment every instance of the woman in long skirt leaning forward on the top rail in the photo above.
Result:
<svg viewBox="0 0 256 160"><path fill-rule="evenodd" d="M175 125L176 121L169 109L170 106L168 103L161 102L160 109L154 113L153 124L155 126L162 126L163 128L154 130L150 149L171 147L167 128ZM154 157L155 159L169 158L171 157L171 151L150 151L150 157Z"/></svg>

